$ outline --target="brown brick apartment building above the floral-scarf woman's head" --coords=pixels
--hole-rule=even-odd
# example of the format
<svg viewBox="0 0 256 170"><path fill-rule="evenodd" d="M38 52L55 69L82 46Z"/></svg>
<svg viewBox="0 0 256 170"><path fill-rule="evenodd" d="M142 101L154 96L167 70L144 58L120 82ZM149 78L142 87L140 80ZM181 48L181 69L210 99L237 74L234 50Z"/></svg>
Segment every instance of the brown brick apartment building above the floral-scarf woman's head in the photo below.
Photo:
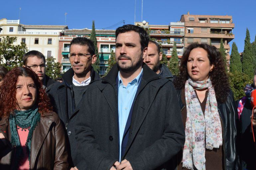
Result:
<svg viewBox="0 0 256 170"><path fill-rule="evenodd" d="M235 27L232 16L220 15L186 15L181 16L181 22L185 23L185 48L193 42L208 43L220 48L220 40L223 39L226 49L227 66L230 64L229 42L235 36Z"/></svg>

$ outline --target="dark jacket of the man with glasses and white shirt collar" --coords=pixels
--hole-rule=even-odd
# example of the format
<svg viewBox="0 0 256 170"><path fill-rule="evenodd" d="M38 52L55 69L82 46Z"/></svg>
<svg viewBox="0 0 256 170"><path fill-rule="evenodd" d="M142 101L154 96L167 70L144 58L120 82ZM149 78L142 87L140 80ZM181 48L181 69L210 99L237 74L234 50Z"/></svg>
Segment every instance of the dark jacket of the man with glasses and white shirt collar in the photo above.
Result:
<svg viewBox="0 0 256 170"><path fill-rule="evenodd" d="M62 83L57 82L51 86L48 91L48 96L53 104L54 111L59 115L64 128L66 129L66 138L69 157L68 161L70 166L74 166L74 158L76 156L76 140L74 136L74 117L79 109L79 104L75 106L74 92L72 88L72 78L74 71L70 68L63 74L64 81ZM99 75L91 67L91 82L99 80ZM91 83L90 82L90 83ZM81 99L82 100L82 99Z"/></svg>

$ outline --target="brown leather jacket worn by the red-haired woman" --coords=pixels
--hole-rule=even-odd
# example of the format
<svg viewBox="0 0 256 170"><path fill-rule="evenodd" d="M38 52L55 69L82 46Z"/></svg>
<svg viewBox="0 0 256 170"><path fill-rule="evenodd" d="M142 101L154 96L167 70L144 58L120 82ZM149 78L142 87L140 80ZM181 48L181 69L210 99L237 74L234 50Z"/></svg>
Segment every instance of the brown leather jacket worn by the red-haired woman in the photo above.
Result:
<svg viewBox="0 0 256 170"><path fill-rule="evenodd" d="M8 139L6 142L0 139L0 169L8 170L11 169L13 161L9 117L0 119L0 132ZM65 133L60 118L54 112L44 113L44 116L41 116L41 121L33 131L30 169L68 169Z"/></svg>

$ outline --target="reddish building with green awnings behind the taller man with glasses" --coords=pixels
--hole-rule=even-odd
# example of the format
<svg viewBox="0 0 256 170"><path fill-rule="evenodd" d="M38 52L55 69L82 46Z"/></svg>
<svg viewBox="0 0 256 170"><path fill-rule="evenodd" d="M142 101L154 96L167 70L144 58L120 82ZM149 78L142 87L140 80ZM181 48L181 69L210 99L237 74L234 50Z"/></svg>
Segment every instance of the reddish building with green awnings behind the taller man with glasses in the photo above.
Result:
<svg viewBox="0 0 256 170"><path fill-rule="evenodd" d="M100 59L100 75L104 75L108 67L108 59L111 50L115 52L115 30L95 30L97 38L97 47ZM72 29L65 30L59 37L59 55L58 61L62 64L63 72L71 68L71 64L67 57L69 53L70 42L75 37L89 38L91 29Z"/></svg>

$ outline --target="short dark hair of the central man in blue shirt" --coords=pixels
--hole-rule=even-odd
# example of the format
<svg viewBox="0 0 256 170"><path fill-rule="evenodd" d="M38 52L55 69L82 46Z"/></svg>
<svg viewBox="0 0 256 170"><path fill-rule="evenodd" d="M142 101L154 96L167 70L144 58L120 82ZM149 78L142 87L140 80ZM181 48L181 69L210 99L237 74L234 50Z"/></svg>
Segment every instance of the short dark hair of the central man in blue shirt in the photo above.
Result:
<svg viewBox="0 0 256 170"><path fill-rule="evenodd" d="M124 25L122 27L118 27L116 29L116 38L120 33L126 33L129 31L134 31L136 33L138 33L140 35L140 44L141 44L141 51L144 50L145 47L148 46L149 43L149 35L146 32L145 29L139 27L139 26L135 26L135 25Z"/></svg>

